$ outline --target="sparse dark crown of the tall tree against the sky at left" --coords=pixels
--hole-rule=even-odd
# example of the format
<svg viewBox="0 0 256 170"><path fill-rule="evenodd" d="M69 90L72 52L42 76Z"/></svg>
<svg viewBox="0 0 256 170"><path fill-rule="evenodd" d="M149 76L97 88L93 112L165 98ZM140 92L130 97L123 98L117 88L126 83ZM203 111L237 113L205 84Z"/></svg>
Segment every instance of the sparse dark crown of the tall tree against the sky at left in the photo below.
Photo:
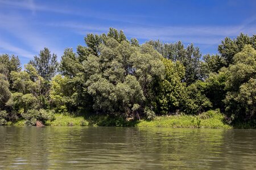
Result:
<svg viewBox="0 0 256 170"><path fill-rule="evenodd" d="M39 56L35 56L33 60L29 62L38 71L38 74L46 80L51 80L51 78L56 74L57 71L57 56L52 54L48 48L40 50Z"/></svg>

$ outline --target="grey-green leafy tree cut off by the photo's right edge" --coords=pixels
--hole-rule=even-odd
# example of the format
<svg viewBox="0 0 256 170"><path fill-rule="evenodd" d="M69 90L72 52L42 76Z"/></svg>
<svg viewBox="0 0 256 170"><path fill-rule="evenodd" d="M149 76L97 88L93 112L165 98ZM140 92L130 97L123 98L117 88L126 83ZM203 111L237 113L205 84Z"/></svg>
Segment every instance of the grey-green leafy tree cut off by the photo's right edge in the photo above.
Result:
<svg viewBox="0 0 256 170"><path fill-rule="evenodd" d="M225 89L225 110L235 121L248 121L255 118L255 78L256 50L245 45L241 52L234 56L234 63L225 73L228 77Z"/></svg>

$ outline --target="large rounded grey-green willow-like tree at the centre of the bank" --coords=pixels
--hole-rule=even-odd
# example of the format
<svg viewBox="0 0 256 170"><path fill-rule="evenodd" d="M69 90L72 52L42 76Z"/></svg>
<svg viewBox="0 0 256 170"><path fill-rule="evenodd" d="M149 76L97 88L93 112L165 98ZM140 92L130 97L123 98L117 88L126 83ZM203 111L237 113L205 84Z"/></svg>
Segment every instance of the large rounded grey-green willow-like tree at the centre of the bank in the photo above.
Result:
<svg viewBox="0 0 256 170"><path fill-rule="evenodd" d="M139 117L137 113L143 113L145 105L151 105L154 79L162 76L161 57L150 45L134 46L127 41L106 40L100 45L100 56L90 55L83 63L93 108Z"/></svg>

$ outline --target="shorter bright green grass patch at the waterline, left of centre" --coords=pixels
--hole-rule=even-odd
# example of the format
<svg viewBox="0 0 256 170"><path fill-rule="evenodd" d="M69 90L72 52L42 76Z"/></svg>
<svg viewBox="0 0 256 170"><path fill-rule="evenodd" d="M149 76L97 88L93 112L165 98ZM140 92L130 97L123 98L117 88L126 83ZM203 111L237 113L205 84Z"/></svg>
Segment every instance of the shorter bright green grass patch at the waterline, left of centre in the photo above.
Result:
<svg viewBox="0 0 256 170"><path fill-rule="evenodd" d="M89 122L82 116L55 114L53 121L46 121L47 126L88 126Z"/></svg>

